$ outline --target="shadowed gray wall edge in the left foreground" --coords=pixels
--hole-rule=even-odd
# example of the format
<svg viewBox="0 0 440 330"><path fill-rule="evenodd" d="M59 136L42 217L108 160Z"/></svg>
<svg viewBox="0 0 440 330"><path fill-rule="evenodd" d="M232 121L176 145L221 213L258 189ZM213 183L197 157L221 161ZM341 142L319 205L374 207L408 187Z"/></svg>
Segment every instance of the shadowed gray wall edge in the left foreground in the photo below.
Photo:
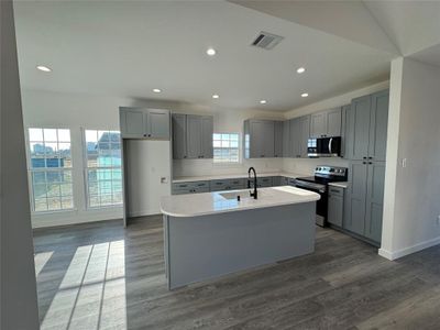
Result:
<svg viewBox="0 0 440 330"><path fill-rule="evenodd" d="M12 1L0 1L0 329L40 329Z"/></svg>

